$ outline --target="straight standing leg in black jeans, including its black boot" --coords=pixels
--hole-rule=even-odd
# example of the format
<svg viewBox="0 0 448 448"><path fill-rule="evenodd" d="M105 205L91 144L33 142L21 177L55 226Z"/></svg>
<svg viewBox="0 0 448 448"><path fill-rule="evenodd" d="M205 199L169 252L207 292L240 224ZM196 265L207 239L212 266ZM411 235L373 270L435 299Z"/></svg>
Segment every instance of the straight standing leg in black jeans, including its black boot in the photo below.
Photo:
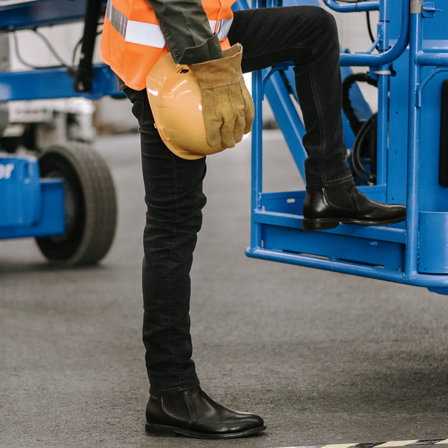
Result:
<svg viewBox="0 0 448 448"><path fill-rule="evenodd" d="M263 419L228 409L199 386L191 359L190 268L202 224L205 158L174 155L154 128L145 90L125 89L140 125L147 206L143 236L143 342L148 435L227 439L263 431Z"/></svg>

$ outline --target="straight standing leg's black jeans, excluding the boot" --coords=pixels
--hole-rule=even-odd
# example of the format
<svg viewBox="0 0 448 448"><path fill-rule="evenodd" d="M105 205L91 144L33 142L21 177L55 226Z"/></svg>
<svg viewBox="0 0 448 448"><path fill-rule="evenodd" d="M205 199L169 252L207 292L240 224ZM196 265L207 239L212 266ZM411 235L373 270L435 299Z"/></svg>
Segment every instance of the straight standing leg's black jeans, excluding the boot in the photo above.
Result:
<svg viewBox="0 0 448 448"><path fill-rule="evenodd" d="M143 236L143 342L150 392L198 386L191 359L190 268L206 198L205 158L185 160L164 145L146 91L125 89L138 119L147 206Z"/></svg>

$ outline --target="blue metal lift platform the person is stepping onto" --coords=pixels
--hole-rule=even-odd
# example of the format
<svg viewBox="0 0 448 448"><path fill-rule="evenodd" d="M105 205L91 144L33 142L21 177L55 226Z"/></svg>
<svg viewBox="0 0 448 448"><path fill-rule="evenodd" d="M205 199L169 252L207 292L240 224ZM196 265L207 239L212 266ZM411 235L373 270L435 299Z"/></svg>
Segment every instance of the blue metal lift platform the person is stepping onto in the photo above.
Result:
<svg viewBox="0 0 448 448"><path fill-rule="evenodd" d="M448 151L440 146L441 86L448 78L448 8L444 0L324 2L340 12L379 11L378 54L372 53L376 46L372 45L366 53L341 53L340 63L341 71L368 66L370 76L378 80L377 185L360 190L374 200L406 203L405 228L403 223L340 224L335 229L303 232L305 191L263 193L261 102L265 94L304 178L305 129L278 73L282 70L293 80L288 76L291 69L278 65L252 75L252 214L246 255L448 294L448 188L438 181L439 156ZM301 4L317 6L312 1L283 1L283 6ZM252 7L262 7L262 0L253 0ZM281 6L267 0L267 7ZM238 0L237 8L247 8L245 0ZM347 138L345 143L349 147Z"/></svg>

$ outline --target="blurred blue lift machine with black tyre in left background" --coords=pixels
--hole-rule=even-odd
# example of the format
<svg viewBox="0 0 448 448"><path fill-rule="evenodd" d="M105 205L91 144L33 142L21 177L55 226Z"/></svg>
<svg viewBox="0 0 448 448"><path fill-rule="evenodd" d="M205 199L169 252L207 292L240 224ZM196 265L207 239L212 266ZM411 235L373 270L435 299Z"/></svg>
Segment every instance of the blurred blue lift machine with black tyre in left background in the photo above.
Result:
<svg viewBox="0 0 448 448"><path fill-rule="evenodd" d="M0 103L120 96L111 70L92 66L105 6L98 0L0 0L0 38L23 29L38 34L41 26L85 24L77 46L81 46L77 67L3 69ZM7 40L1 42L7 54ZM0 121L2 117L0 136L5 128L5 115L0 113ZM80 142L40 147L35 129L31 125L20 136L27 155L12 154L15 138L0 138L0 151L4 151L0 153L0 239L35 237L42 253L63 266L96 263L108 252L116 229L116 195L108 166Z"/></svg>

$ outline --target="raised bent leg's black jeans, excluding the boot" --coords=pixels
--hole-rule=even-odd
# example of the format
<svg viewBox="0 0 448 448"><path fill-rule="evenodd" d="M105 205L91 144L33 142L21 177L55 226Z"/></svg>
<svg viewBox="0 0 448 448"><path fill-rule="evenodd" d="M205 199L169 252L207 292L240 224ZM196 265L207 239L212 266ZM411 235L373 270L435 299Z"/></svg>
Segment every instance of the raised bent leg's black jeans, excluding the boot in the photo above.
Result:
<svg viewBox="0 0 448 448"><path fill-rule="evenodd" d="M250 9L234 14L228 38L243 46L243 72L292 60L306 134L307 189L346 182L351 173L342 131L336 22L315 6Z"/></svg>

